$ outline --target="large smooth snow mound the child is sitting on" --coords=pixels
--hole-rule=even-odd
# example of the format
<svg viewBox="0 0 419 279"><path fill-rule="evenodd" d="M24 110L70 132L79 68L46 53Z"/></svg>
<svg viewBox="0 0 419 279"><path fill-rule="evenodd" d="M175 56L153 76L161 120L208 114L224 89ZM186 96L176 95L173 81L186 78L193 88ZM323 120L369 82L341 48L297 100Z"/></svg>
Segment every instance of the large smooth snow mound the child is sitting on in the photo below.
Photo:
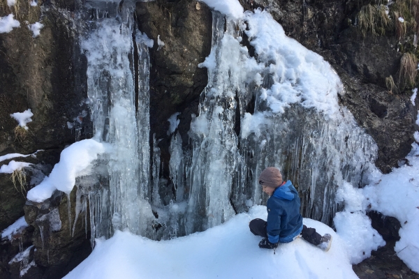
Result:
<svg viewBox="0 0 419 279"><path fill-rule="evenodd" d="M260 249L262 238L251 234L249 222L266 217L265 206L254 206L223 225L170 241L117 231L97 239L91 255L65 278L358 278L339 235L314 220L304 224L333 236L328 252L303 239L280 244L275 254Z"/></svg>

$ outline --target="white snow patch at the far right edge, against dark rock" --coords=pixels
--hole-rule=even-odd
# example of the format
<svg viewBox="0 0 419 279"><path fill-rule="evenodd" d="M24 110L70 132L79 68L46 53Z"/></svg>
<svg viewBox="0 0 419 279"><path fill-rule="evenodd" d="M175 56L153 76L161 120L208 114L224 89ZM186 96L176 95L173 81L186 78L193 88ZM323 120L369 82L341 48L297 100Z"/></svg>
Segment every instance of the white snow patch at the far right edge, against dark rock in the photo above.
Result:
<svg viewBox="0 0 419 279"><path fill-rule="evenodd" d="M419 273L419 146L414 143L412 146L406 156L409 164L376 177L376 183L366 186L363 193L372 210L399 220L402 228L395 252L411 270Z"/></svg>

